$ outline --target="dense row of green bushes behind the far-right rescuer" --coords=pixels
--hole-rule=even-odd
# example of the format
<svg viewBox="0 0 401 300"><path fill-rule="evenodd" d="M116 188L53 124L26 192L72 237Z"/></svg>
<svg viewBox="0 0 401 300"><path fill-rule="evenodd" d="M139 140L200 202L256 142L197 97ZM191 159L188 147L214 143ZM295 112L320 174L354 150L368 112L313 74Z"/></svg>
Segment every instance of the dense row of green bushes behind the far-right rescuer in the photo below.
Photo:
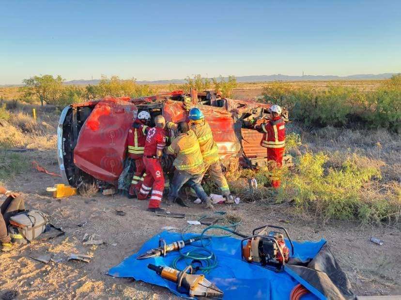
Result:
<svg viewBox="0 0 401 300"><path fill-rule="evenodd" d="M306 125L401 129L401 75L394 75L375 91L358 91L341 86L314 91L274 82L263 89L263 100L287 107L292 120Z"/></svg>

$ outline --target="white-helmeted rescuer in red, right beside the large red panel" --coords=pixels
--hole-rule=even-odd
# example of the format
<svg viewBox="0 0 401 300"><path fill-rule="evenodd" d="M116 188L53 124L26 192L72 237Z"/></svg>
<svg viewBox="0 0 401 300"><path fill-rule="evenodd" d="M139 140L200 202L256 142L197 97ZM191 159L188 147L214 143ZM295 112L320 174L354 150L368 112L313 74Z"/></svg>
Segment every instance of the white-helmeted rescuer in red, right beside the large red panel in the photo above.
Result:
<svg viewBox="0 0 401 300"><path fill-rule="evenodd" d="M128 133L128 156L135 161L135 173L129 186L128 198L135 198L143 181L145 165L143 164L143 150L146 135L149 131L150 114L142 110L132 124Z"/></svg>

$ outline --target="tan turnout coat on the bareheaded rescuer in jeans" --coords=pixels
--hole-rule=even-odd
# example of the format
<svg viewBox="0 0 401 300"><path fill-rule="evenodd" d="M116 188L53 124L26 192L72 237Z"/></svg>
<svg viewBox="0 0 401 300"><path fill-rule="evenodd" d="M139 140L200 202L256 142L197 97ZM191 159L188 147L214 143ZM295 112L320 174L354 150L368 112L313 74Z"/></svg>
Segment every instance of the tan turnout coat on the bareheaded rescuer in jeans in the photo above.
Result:
<svg viewBox="0 0 401 300"><path fill-rule="evenodd" d="M176 155L173 165L177 170L184 170L190 174L200 174L204 171L199 142L192 130L174 138L166 152Z"/></svg>

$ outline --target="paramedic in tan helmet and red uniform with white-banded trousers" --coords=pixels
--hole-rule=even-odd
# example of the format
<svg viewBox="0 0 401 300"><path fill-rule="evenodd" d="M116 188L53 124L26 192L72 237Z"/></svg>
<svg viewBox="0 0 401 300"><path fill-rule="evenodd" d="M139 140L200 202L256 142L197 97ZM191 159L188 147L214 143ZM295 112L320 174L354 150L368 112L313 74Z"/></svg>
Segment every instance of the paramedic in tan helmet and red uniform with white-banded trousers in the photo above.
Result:
<svg viewBox="0 0 401 300"><path fill-rule="evenodd" d="M145 150L143 152L143 163L146 167L146 176L138 194L139 200L146 199L152 190L149 201L149 211L163 211L160 202L163 198L164 176L160 165L163 149L166 147L166 120L163 116L154 118L155 127L151 128L146 135ZM153 189L152 189L153 186Z"/></svg>

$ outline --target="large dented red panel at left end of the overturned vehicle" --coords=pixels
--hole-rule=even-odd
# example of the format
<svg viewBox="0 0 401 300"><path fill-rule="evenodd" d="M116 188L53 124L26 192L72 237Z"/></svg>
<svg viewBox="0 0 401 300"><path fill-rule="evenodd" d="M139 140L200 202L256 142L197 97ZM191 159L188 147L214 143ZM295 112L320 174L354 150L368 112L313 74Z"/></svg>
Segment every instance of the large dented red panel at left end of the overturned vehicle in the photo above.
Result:
<svg viewBox="0 0 401 300"><path fill-rule="evenodd" d="M74 164L94 178L116 182L123 170L127 134L136 114L129 97L106 97L82 126L74 149Z"/></svg>

